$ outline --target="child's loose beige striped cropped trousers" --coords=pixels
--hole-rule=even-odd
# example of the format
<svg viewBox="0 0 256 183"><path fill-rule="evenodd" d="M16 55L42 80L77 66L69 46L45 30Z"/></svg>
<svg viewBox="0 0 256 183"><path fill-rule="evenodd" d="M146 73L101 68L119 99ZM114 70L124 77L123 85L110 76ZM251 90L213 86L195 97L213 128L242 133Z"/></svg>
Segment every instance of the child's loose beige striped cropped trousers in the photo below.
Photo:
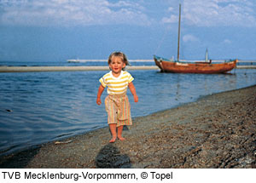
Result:
<svg viewBox="0 0 256 183"><path fill-rule="evenodd" d="M109 94L105 99L108 124L131 125L131 106L126 94Z"/></svg>

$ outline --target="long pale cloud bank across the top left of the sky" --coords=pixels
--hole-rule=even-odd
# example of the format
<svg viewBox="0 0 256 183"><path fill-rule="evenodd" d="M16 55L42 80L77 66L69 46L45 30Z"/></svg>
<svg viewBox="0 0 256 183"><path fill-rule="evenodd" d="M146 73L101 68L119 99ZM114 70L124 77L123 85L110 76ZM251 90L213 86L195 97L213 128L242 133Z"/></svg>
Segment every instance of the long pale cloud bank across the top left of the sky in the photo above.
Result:
<svg viewBox="0 0 256 183"><path fill-rule="evenodd" d="M108 0L2 0L0 23L21 26L149 25L143 6Z"/></svg>

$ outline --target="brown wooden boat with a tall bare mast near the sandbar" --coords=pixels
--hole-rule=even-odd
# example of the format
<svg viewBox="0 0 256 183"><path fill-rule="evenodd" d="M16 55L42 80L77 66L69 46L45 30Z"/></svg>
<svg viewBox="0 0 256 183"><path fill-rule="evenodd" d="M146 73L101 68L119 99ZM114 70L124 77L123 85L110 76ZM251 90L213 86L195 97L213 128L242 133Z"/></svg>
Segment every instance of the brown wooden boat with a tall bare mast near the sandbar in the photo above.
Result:
<svg viewBox="0 0 256 183"><path fill-rule="evenodd" d="M237 60L226 60L223 63L212 63L212 60L208 61L208 51L206 53L206 60L204 62L180 61L179 60L180 17L181 17L181 5L179 4L177 60L168 60L168 59L164 59L154 55L155 65L160 68L160 71L173 72L173 73L214 74L214 73L225 73L225 72L231 71L236 67Z"/></svg>

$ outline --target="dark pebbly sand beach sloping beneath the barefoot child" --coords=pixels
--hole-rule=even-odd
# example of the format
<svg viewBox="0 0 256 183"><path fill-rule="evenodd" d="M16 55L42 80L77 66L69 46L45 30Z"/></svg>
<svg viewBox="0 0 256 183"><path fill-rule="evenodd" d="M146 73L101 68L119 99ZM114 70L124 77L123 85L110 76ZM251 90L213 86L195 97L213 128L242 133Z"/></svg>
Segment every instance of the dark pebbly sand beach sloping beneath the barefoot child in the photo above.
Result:
<svg viewBox="0 0 256 183"><path fill-rule="evenodd" d="M0 157L0 168L256 168L256 85Z"/></svg>

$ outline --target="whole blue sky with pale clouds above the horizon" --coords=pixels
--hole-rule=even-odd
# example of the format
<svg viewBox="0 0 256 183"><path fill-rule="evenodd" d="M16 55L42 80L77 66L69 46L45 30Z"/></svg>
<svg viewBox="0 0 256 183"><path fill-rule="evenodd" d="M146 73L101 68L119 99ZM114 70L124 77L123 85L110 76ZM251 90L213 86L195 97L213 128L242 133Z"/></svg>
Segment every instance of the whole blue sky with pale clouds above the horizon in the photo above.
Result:
<svg viewBox="0 0 256 183"><path fill-rule="evenodd" d="M0 60L256 60L253 0L0 0Z"/></svg>

